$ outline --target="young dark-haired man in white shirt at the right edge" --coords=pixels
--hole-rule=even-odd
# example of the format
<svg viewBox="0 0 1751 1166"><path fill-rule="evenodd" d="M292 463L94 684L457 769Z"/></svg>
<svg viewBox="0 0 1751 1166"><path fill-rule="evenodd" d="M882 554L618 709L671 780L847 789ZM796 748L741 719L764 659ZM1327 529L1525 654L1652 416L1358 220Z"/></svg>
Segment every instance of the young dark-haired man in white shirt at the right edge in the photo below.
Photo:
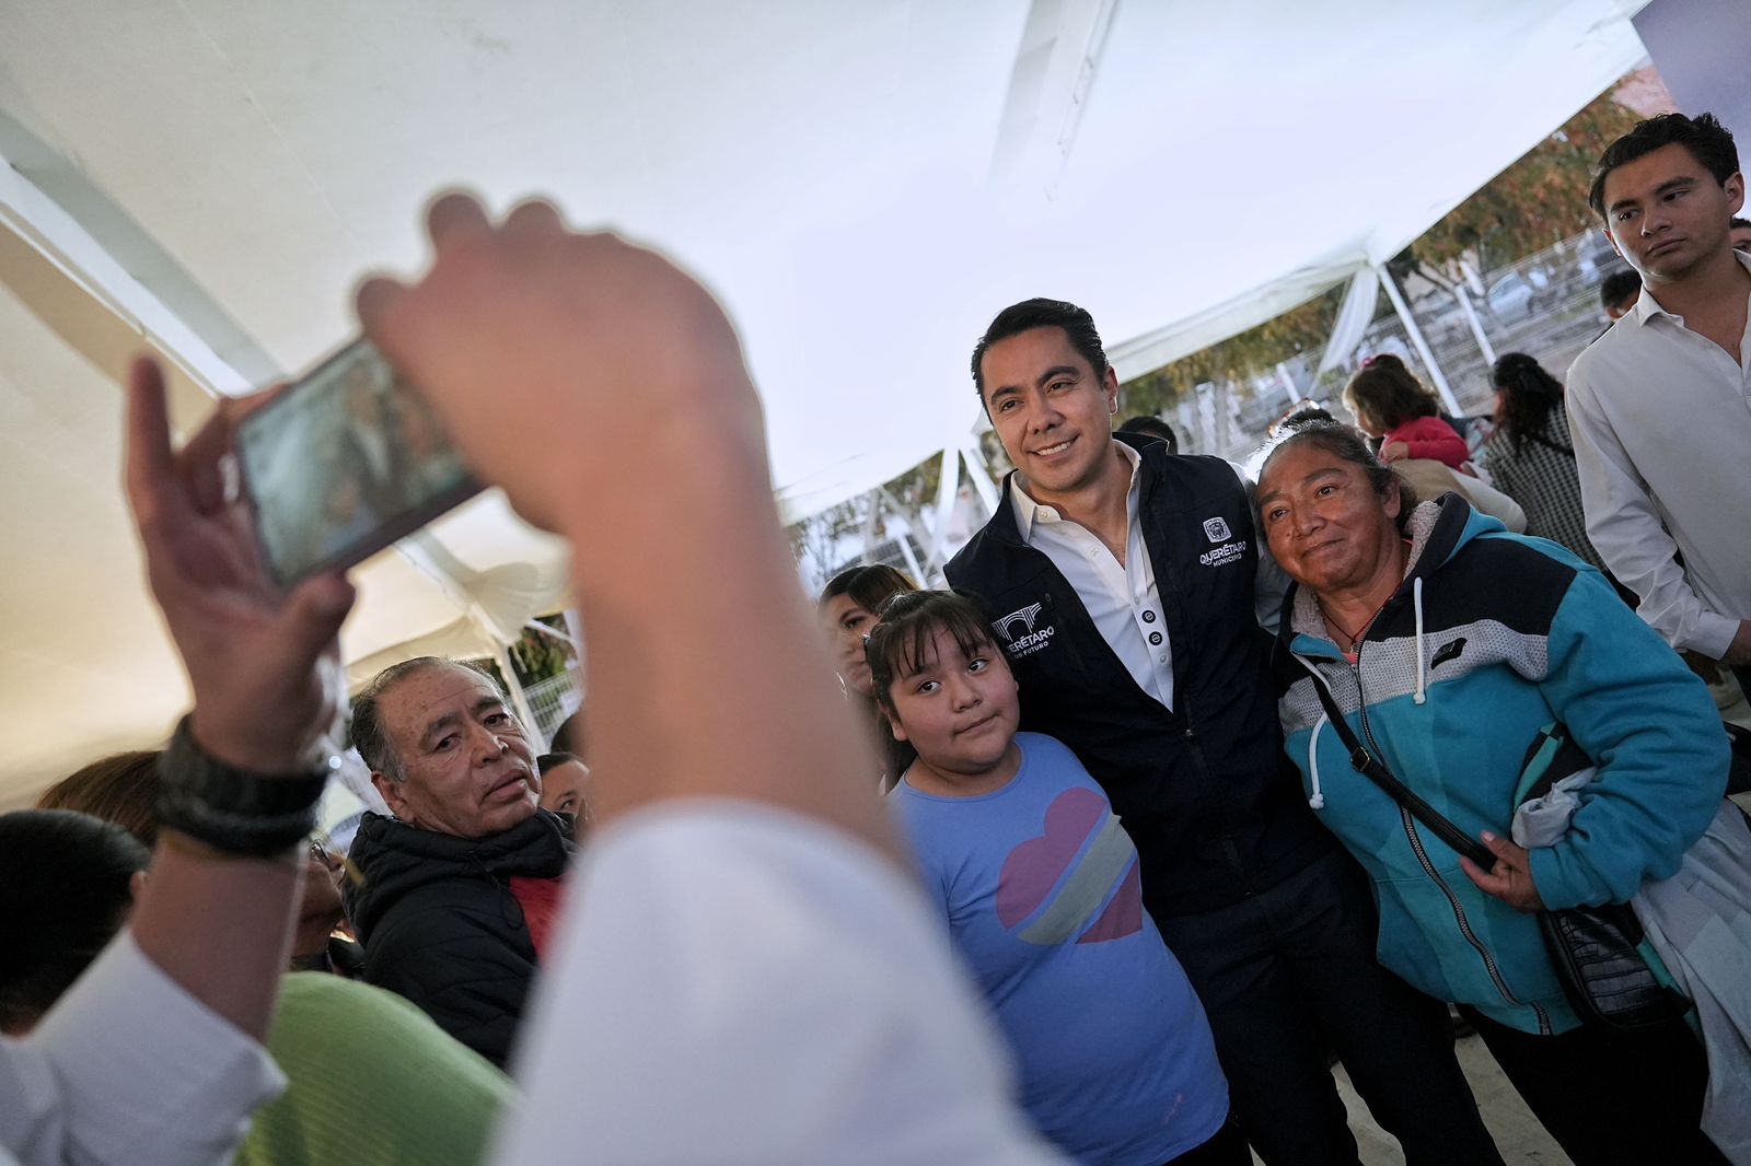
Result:
<svg viewBox="0 0 1751 1166"><path fill-rule="evenodd" d="M1732 135L1662 114L1600 156L1592 205L1642 277L1569 369L1586 534L1674 648L1751 679L1751 256Z"/></svg>

